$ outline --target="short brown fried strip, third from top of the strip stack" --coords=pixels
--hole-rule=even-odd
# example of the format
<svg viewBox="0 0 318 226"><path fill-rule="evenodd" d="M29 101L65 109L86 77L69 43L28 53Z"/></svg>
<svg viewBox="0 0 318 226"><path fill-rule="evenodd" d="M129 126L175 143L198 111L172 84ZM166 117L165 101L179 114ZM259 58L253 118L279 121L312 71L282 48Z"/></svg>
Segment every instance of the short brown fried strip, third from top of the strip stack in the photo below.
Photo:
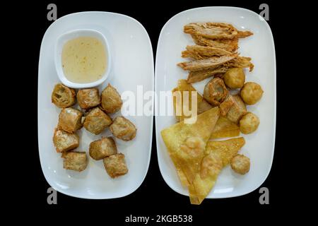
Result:
<svg viewBox="0 0 318 226"><path fill-rule="evenodd" d="M229 52L225 49L216 47L204 47L197 44L187 45L186 49L187 50L182 51L182 57L189 57L195 60L232 54L232 52Z"/></svg>

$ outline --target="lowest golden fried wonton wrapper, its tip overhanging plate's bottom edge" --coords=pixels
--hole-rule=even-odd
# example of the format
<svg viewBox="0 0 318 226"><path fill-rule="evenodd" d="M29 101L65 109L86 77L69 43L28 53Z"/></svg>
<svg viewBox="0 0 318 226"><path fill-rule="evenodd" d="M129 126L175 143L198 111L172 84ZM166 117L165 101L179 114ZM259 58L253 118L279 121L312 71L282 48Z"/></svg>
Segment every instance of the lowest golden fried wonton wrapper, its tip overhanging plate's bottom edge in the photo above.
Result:
<svg viewBox="0 0 318 226"><path fill-rule="evenodd" d="M221 169L228 165L243 145L245 145L245 139L242 137L226 141L208 141L201 161L200 174L196 174L192 184L189 185L192 204L201 204L216 184Z"/></svg>

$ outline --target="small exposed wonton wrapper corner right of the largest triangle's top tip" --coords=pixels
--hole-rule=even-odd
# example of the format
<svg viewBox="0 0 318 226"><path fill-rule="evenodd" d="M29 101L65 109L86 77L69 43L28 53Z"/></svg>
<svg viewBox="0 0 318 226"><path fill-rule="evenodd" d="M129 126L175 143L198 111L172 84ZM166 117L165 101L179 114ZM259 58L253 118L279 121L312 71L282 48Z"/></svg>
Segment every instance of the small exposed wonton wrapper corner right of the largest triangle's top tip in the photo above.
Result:
<svg viewBox="0 0 318 226"><path fill-rule="evenodd" d="M218 118L210 139L227 138L240 135L240 128L225 117Z"/></svg>

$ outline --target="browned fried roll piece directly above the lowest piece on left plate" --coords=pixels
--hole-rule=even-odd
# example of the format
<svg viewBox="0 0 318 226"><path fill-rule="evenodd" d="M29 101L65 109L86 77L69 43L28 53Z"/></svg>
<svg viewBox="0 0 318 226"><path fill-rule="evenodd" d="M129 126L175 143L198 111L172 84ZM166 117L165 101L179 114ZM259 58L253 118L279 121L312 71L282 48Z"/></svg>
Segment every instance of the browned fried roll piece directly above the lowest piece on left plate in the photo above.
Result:
<svg viewBox="0 0 318 226"><path fill-rule="evenodd" d="M90 157L93 157L94 160L101 160L104 157L116 153L116 143L114 143L114 140L111 137L101 138L98 141L90 143Z"/></svg>

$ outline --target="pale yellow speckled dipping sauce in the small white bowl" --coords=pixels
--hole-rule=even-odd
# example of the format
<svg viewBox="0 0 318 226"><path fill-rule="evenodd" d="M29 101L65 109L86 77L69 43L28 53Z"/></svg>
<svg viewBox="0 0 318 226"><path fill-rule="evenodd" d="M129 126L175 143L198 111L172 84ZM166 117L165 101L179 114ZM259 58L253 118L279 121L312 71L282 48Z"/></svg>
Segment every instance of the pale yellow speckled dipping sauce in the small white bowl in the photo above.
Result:
<svg viewBox="0 0 318 226"><path fill-rule="evenodd" d="M98 81L106 71L105 46L95 37L77 37L64 44L61 63L73 83Z"/></svg>

